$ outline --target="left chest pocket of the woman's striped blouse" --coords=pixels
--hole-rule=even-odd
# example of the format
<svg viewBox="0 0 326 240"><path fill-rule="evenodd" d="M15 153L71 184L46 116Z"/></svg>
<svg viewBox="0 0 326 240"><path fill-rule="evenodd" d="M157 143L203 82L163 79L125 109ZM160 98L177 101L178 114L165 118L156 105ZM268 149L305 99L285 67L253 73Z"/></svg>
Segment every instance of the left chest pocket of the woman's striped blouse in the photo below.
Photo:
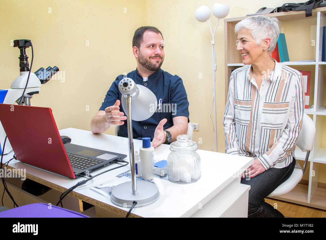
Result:
<svg viewBox="0 0 326 240"><path fill-rule="evenodd" d="M248 125L251 114L251 99L240 100L234 99L235 122L241 125Z"/></svg>

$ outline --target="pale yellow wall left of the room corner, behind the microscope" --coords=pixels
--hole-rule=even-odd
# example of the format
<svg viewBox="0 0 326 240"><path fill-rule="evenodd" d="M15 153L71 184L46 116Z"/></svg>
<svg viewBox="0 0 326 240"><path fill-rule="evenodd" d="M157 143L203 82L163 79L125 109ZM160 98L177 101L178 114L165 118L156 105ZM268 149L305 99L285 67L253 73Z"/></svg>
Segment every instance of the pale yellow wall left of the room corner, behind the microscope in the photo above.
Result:
<svg viewBox="0 0 326 240"><path fill-rule="evenodd" d="M19 75L19 50L10 40L31 39L33 72L56 65L65 73L65 82L41 85L32 105L51 107L59 129L90 130L111 83L136 69L131 41L135 29L147 24L146 1L2 0L0 9L1 88L10 88ZM31 49L26 52L31 64Z"/></svg>

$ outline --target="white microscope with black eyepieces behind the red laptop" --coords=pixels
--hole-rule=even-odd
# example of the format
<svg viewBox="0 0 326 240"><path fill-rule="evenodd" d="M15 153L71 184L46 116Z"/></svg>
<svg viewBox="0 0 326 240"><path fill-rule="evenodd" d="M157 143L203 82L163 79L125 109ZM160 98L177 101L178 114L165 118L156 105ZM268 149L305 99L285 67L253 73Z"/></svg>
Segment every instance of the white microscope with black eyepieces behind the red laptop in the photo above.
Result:
<svg viewBox="0 0 326 240"><path fill-rule="evenodd" d="M13 46L18 47L20 50L19 68L20 76L15 78L11 83L10 89L0 89L0 103L14 104L15 102L20 105L30 106L30 99L34 94L39 93L41 84L49 82L54 74L59 71L59 68L54 66L48 68L39 68L36 72L31 72L28 64L28 56L26 54L26 48L32 47L32 62L33 64L33 45L31 40L17 39L13 41ZM27 85L26 85L27 84ZM14 106L14 105L13 105ZM0 113L3 114L3 113ZM23 116L22 116L23 117ZM22 120L23 124L23 120ZM12 126L13 128L15 126ZM6 133L0 124L0 154L2 154L2 148ZM6 140L5 149L3 154L6 155L12 150L12 147Z"/></svg>

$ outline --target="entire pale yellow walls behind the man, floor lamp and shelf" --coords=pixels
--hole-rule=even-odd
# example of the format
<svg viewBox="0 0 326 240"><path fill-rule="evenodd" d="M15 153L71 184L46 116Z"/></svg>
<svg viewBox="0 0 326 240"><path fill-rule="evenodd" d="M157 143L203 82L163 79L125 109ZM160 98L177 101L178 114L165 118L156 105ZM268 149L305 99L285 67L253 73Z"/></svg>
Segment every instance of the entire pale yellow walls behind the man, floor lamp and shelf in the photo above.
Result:
<svg viewBox="0 0 326 240"><path fill-rule="evenodd" d="M131 48L135 29L142 25L153 25L161 30L165 39L162 69L179 75L184 81L190 103L190 121L198 123L200 129L194 132L194 140L199 142L201 138L199 148L210 150L213 147L213 125L209 116L213 100L212 38L208 24L198 22L194 12L201 5L212 8L215 2L1 0L0 87L10 88L11 82L19 75L19 51L10 45L10 40L31 39L34 46L32 70L56 65L65 73L65 82L51 80L42 85L40 93L31 100L32 105L51 107L59 129L73 127L90 130L90 121L116 76L136 68ZM273 3L257 0L218 2L229 4L227 18L233 18L254 13L260 7L281 6L284 0ZM49 7L52 13L49 13ZM217 22L213 14L210 22L212 27ZM285 29L289 31L291 28L285 26ZM87 40L89 46L86 46ZM293 46L289 45L289 52L296 54L297 49ZM223 20L216 29L215 51L218 151L224 152L222 118L226 86ZM309 51L312 59L313 51ZM30 62L30 49L27 54ZM294 56L298 59L293 60L300 59L300 55ZM214 119L214 111L212 117ZM106 133L112 134L113 129ZM326 183L326 179L319 181Z"/></svg>

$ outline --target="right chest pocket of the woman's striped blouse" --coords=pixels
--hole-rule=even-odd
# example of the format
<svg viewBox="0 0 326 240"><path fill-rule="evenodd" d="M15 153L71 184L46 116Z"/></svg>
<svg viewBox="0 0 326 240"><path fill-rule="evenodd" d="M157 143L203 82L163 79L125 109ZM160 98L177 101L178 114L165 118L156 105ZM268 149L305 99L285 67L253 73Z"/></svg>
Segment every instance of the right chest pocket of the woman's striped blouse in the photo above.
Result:
<svg viewBox="0 0 326 240"><path fill-rule="evenodd" d="M261 126L269 129L281 129L289 111L289 104L289 102L264 102Z"/></svg>

